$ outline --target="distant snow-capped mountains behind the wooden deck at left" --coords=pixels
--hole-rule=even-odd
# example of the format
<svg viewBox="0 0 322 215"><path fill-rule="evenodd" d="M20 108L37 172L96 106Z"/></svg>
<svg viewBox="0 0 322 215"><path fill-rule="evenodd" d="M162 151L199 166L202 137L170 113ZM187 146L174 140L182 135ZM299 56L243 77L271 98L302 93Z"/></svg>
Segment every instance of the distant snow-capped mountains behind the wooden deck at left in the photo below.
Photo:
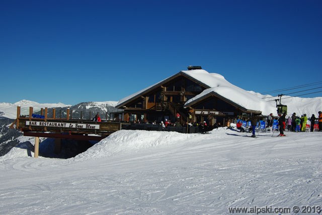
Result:
<svg viewBox="0 0 322 215"><path fill-rule="evenodd" d="M52 109L56 109L56 117L66 117L67 108L72 112L73 119L92 119L99 113L102 119L109 118L111 112L119 111L115 108L117 101L82 102L75 105L63 103L38 103L35 101L21 100L16 103L0 103L0 156L7 154L19 143L27 141L22 137L22 132L10 129L9 126L17 118L17 106L21 106L21 115L29 115L29 107L32 106L34 114L40 114L41 108L47 107L48 117L52 117ZM30 138L29 138L30 139Z"/></svg>

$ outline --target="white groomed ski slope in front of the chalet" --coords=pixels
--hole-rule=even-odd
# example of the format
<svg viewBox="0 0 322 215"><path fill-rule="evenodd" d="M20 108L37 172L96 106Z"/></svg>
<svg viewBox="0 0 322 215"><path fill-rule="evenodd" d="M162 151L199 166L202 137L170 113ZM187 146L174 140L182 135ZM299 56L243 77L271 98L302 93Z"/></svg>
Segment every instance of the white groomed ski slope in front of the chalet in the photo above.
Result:
<svg viewBox="0 0 322 215"><path fill-rule="evenodd" d="M321 206L322 133L285 134L122 130L66 160L29 157L27 142L0 157L0 213L232 214L228 207Z"/></svg>

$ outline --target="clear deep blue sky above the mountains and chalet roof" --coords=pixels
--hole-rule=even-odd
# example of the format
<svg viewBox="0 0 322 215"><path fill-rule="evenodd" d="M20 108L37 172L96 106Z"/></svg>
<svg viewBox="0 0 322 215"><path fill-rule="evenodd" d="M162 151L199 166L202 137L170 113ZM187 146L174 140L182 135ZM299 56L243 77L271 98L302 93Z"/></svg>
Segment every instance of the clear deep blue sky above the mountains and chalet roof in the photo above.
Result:
<svg viewBox="0 0 322 215"><path fill-rule="evenodd" d="M0 2L0 102L119 100L189 65L256 92L322 81L322 1Z"/></svg>

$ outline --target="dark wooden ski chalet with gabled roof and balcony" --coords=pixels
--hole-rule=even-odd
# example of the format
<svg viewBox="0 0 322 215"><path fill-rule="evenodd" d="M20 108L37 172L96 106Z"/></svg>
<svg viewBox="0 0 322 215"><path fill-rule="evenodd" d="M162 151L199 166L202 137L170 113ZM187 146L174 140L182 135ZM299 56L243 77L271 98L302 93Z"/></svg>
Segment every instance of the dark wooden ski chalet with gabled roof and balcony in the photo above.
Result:
<svg viewBox="0 0 322 215"><path fill-rule="evenodd" d="M206 121L208 125L220 122L225 125L228 119L249 116L251 113L261 114L260 110L250 110L224 94L211 90L207 92L216 85L212 82L212 78L216 78L214 75L218 75L219 79L222 77L208 73L200 66L190 66L187 71L180 71L121 99L116 107L123 111L112 113L112 118L123 122L160 122L168 119L171 122L179 121L182 125L190 121Z"/></svg>

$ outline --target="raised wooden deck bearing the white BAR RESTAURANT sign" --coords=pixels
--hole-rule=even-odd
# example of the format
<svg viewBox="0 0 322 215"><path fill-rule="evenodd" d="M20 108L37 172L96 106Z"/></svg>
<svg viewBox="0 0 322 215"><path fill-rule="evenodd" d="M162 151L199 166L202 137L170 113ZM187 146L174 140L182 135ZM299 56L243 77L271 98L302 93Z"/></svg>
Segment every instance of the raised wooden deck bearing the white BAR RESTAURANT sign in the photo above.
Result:
<svg viewBox="0 0 322 215"><path fill-rule="evenodd" d="M100 141L113 132L121 130L122 124L70 119L69 109L67 109L67 117L64 119L55 118L55 110L53 110L53 116L48 118L47 108L41 110L41 115L34 115L33 107L29 108L28 116L21 116L20 106L18 106L17 119L10 128L21 130L24 136L35 137L35 157L38 157L39 137L55 138L55 152L58 153L61 139Z"/></svg>

